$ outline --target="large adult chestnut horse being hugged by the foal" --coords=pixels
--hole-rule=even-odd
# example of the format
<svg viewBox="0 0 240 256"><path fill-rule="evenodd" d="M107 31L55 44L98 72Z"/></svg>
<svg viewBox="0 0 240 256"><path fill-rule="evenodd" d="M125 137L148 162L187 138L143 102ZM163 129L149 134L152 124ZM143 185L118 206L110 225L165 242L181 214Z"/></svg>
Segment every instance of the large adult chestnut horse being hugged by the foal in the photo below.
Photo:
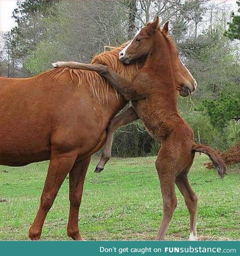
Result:
<svg viewBox="0 0 240 256"><path fill-rule="evenodd" d="M123 65L118 60L123 47L102 53L91 63L108 65L131 79L145 58ZM176 89L186 96L188 90L194 91L195 80L179 60L174 67ZM87 166L104 144L107 124L126 103L91 71L65 68L25 79L0 77L0 164L22 166L50 160L30 239L40 238L46 214L68 173L67 234L82 239L78 211Z"/></svg>

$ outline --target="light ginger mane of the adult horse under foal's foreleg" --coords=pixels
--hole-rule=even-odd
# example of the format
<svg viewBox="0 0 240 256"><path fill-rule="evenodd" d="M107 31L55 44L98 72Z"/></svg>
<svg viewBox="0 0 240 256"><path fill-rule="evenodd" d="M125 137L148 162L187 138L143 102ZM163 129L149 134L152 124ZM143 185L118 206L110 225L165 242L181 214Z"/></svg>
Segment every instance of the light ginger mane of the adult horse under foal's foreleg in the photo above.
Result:
<svg viewBox="0 0 240 256"><path fill-rule="evenodd" d="M91 64L103 64L109 66L112 70L116 71L119 75L131 80L133 75L138 71L138 63L134 62L130 65L123 65L118 60L118 54L121 49L125 47L123 44L120 47L113 48L111 51L106 51L97 54L91 60ZM107 104L108 92L112 91L115 94L117 100L119 100L118 92L111 87L108 82L99 76L94 71L81 70L81 69L70 69L70 68L57 68L49 71L50 77L55 81L63 73L69 72L71 80L73 81L73 76L78 79L78 87L81 87L82 79L86 79L88 85L90 86L91 92L94 97L98 99L101 104Z"/></svg>

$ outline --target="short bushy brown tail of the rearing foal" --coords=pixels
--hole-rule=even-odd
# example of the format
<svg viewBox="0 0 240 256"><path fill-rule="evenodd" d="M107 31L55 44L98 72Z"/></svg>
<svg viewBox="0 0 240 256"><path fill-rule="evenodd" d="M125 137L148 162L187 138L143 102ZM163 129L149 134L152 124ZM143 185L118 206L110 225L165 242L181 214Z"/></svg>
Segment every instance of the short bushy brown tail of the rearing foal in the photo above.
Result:
<svg viewBox="0 0 240 256"><path fill-rule="evenodd" d="M208 155L221 177L226 173L226 165L214 149L202 144L193 144L192 151Z"/></svg>

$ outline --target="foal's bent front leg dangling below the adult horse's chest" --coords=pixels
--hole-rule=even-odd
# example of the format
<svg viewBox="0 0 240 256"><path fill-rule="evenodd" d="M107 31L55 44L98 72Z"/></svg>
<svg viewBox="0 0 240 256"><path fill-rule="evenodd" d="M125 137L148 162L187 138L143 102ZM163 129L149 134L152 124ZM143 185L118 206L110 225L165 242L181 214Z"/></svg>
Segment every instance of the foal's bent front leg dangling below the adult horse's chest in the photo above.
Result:
<svg viewBox="0 0 240 256"><path fill-rule="evenodd" d="M139 117L137 116L135 110L132 107L130 107L125 112L121 113L120 115L110 120L106 129L106 142L104 145L104 149L101 154L101 159L95 168L95 172L101 172L104 168L104 165L111 157L111 146L112 146L112 138L113 138L114 131L118 127L128 124L132 121L135 121L138 118Z"/></svg>

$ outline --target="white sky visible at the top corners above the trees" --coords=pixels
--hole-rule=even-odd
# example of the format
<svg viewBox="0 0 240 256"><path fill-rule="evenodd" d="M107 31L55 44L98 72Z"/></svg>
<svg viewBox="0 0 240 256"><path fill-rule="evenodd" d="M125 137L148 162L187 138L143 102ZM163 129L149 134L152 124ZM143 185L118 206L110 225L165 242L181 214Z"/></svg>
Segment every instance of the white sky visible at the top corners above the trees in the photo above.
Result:
<svg viewBox="0 0 240 256"><path fill-rule="evenodd" d="M0 31L2 32L10 31L15 25L11 16L12 11L16 8L16 1L17 0L0 0ZM211 0L209 2L225 2L236 7L236 0Z"/></svg>

